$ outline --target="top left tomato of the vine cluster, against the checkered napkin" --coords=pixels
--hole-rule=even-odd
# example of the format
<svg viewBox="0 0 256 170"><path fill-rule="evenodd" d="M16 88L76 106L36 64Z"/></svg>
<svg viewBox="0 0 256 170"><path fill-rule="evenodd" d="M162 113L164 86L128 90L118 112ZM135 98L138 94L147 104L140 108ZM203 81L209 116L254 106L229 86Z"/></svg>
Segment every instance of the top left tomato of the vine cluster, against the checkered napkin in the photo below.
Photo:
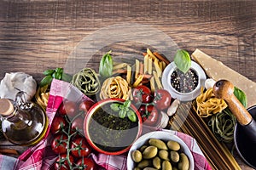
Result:
<svg viewBox="0 0 256 170"><path fill-rule="evenodd" d="M61 115L67 115L67 116L76 116L76 113L78 111L78 107L75 104L75 102L70 100L65 100L61 103L58 112Z"/></svg>

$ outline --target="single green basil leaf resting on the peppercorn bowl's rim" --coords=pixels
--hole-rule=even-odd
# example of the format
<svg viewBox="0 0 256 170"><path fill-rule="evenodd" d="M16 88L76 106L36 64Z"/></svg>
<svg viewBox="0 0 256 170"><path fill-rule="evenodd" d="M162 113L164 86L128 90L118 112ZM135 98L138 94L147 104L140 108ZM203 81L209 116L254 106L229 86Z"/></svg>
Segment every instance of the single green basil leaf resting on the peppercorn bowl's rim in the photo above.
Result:
<svg viewBox="0 0 256 170"><path fill-rule="evenodd" d="M189 71L191 66L191 59L189 53L183 49L177 51L177 54L174 56L174 63L177 65L177 68L183 73Z"/></svg>

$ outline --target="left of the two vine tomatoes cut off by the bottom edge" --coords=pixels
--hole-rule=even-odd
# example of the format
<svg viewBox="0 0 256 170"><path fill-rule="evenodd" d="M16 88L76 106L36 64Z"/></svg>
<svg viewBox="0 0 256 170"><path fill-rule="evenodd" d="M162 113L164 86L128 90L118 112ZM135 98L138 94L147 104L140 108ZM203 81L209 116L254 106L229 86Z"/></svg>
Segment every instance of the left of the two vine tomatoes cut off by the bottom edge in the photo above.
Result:
<svg viewBox="0 0 256 170"><path fill-rule="evenodd" d="M73 156L69 155L69 161L73 164ZM55 169L57 170L69 170L70 166L67 161L67 154L59 155L58 159L55 161Z"/></svg>

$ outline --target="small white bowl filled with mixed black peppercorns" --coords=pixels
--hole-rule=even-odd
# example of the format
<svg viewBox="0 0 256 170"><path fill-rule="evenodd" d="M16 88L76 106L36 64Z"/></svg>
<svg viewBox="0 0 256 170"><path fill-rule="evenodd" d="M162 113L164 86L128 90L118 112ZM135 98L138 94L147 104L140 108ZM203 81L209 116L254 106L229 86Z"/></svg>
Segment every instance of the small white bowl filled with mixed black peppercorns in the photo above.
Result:
<svg viewBox="0 0 256 170"><path fill-rule="evenodd" d="M186 72L180 71L172 62L163 72L162 83L172 98L191 101L201 94L201 87L204 87L206 79L205 72L195 61L191 61L191 66Z"/></svg>

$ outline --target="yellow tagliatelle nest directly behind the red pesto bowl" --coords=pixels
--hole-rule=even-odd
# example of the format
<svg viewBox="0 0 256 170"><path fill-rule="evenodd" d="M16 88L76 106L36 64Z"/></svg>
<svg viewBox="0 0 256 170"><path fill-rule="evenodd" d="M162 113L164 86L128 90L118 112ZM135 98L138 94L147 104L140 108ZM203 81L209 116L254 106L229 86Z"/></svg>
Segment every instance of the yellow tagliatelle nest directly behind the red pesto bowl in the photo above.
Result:
<svg viewBox="0 0 256 170"><path fill-rule="evenodd" d="M129 85L128 82L122 77L109 77L102 84L101 99L118 98L128 99L129 98Z"/></svg>

